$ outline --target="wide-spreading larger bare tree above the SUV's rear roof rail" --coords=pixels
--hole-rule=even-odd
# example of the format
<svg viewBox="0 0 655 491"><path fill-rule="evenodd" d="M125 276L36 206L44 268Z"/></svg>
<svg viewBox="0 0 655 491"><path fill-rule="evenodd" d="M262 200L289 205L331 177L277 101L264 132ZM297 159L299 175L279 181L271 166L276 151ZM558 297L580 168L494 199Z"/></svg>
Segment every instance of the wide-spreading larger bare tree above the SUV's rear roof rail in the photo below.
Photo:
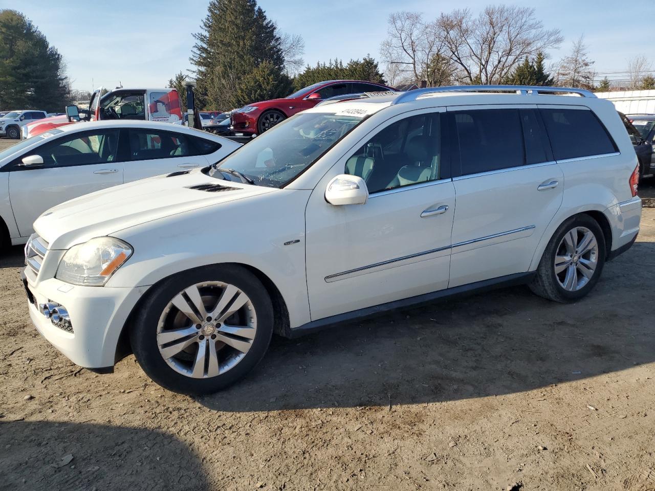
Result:
<svg viewBox="0 0 655 491"><path fill-rule="evenodd" d="M460 82L497 84L525 57L559 46L559 29L545 29L534 9L489 5L477 17L470 10L441 14L437 32L457 65Z"/></svg>

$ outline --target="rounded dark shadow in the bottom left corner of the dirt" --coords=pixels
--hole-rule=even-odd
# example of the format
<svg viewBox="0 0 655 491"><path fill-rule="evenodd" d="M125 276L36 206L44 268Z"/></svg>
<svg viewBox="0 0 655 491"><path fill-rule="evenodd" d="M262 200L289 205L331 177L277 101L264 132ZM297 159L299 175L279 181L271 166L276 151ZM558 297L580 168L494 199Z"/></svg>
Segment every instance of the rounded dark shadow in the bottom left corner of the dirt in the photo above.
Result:
<svg viewBox="0 0 655 491"><path fill-rule="evenodd" d="M0 423L0 434L2 489L210 488L200 460L189 447L161 431L18 421ZM67 455L73 456L69 464L53 467Z"/></svg>

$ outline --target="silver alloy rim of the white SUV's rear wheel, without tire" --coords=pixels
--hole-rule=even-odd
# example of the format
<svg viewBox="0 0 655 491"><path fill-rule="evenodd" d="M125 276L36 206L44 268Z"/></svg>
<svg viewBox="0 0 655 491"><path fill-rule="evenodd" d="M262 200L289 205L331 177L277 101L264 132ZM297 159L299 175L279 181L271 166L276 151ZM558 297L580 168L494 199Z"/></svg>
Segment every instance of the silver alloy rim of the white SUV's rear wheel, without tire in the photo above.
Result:
<svg viewBox="0 0 655 491"><path fill-rule="evenodd" d="M598 241L586 227L571 228L555 253L555 277L567 291L578 291L589 283L598 265Z"/></svg>

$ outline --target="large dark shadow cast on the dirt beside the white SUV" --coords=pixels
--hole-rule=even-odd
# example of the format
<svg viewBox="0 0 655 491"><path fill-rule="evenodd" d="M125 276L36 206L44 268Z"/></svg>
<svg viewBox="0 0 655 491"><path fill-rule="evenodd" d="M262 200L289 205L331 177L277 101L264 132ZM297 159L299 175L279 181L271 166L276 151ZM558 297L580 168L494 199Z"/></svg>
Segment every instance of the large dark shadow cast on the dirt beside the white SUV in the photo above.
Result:
<svg viewBox="0 0 655 491"><path fill-rule="evenodd" d="M198 402L223 411L384 407L619 372L655 360L654 271L655 244L637 242L574 304L515 287L274 337L246 380Z"/></svg>

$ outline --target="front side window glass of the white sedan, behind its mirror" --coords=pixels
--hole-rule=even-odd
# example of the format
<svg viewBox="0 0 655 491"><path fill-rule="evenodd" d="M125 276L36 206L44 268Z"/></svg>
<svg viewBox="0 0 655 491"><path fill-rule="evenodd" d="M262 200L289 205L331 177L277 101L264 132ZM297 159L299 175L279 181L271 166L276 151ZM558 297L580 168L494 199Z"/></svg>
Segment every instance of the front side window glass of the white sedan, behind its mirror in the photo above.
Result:
<svg viewBox="0 0 655 491"><path fill-rule="evenodd" d="M24 157L41 155L46 168L106 164L117 160L118 143L119 130L75 133L48 141Z"/></svg>

